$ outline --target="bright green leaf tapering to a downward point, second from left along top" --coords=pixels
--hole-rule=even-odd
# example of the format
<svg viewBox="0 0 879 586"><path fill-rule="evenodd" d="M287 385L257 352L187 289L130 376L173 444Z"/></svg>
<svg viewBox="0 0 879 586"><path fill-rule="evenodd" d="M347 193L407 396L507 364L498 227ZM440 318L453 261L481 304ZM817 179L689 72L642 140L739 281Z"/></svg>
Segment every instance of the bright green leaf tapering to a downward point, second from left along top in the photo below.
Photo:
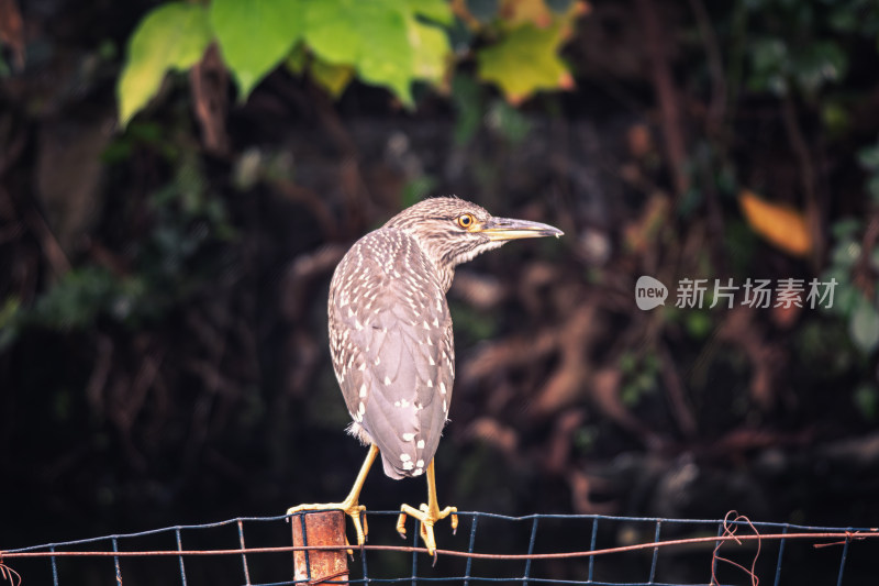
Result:
<svg viewBox="0 0 879 586"><path fill-rule="evenodd" d="M299 0L212 0L211 25L240 100L290 53L302 34L303 8Z"/></svg>

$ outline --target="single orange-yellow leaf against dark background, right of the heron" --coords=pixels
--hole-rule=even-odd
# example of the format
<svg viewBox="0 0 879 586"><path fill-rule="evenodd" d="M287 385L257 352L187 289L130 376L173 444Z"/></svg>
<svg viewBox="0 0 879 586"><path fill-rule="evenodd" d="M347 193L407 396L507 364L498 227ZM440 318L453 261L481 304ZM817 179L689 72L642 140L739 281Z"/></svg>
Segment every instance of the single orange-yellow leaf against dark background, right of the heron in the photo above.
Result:
<svg viewBox="0 0 879 586"><path fill-rule="evenodd" d="M738 203L752 229L782 251L805 256L812 252L812 235L801 212L782 203L770 203L743 189Z"/></svg>

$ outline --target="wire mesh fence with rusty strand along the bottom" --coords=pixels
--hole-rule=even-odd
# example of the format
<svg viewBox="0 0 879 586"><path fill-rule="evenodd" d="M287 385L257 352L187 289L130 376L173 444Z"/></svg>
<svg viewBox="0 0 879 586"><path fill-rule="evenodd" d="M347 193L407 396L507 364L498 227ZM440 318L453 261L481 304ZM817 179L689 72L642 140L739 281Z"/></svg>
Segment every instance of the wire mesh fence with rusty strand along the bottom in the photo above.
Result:
<svg viewBox="0 0 879 586"><path fill-rule="evenodd" d="M752 522L734 515L698 520L460 512L457 534L448 524L435 528L439 550L432 559L411 522L408 540L397 537L399 511L365 513L370 539L355 545L352 555L345 554L344 545L309 542L304 520L312 515L326 512L238 518L0 550L0 583L842 586L879 579L877 528ZM291 538L296 523L302 530L301 544ZM309 554L327 551L346 560L347 575L314 575L308 563L304 570L293 567L294 552L304 552L300 559L308 560Z"/></svg>

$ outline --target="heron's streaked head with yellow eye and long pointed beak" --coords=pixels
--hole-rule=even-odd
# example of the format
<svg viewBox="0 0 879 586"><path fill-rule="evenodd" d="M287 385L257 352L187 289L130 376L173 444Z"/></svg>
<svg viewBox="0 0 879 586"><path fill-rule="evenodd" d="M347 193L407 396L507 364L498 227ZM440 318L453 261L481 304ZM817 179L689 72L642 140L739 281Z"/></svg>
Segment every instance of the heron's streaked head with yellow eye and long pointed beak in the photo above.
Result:
<svg viewBox="0 0 879 586"><path fill-rule="evenodd" d="M434 264L448 272L511 240L563 235L552 225L496 218L476 203L449 197L415 203L391 218L385 228L411 234Z"/></svg>

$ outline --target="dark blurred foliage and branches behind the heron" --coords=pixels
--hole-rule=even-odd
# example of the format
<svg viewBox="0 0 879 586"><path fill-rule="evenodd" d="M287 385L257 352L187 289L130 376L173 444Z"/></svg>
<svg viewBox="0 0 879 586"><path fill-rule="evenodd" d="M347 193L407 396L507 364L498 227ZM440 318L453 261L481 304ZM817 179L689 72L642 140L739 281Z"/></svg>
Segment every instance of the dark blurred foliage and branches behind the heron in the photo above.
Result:
<svg viewBox="0 0 879 586"><path fill-rule="evenodd" d="M0 1L0 548L341 498L364 451L329 280L438 194L566 233L458 272L441 502L879 523L875 2L597 0L563 53L576 88L518 108L466 59L412 111L283 69L238 103L214 60L123 131L152 5ZM800 210L809 250L790 217L763 237L745 190ZM641 275L838 286L833 310L672 287L646 312ZM374 472L361 500L423 493Z"/></svg>

